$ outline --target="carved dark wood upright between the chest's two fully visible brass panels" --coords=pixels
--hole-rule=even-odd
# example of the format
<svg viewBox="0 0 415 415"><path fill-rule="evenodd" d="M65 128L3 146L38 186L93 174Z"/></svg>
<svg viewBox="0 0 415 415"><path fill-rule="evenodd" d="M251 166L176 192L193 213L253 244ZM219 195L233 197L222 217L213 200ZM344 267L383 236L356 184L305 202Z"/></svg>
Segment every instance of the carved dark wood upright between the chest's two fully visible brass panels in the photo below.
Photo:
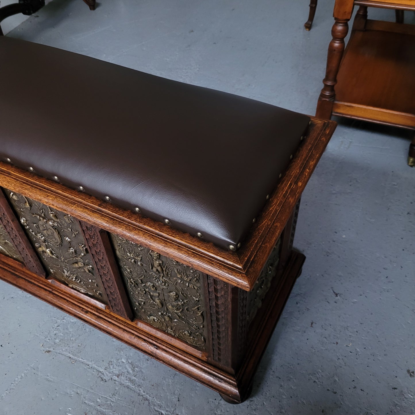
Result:
<svg viewBox="0 0 415 415"><path fill-rule="evenodd" d="M95 269L103 283L111 311L132 320L133 312L112 253L107 232L81 220L79 223Z"/></svg>

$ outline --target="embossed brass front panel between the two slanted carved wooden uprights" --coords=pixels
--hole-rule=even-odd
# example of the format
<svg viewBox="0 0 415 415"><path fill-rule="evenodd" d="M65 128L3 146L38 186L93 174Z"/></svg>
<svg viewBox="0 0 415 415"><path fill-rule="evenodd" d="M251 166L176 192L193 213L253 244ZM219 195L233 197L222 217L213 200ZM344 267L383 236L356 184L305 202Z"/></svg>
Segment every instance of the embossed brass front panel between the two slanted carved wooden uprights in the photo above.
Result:
<svg viewBox="0 0 415 415"><path fill-rule="evenodd" d="M49 275L107 304L78 220L5 189Z"/></svg>

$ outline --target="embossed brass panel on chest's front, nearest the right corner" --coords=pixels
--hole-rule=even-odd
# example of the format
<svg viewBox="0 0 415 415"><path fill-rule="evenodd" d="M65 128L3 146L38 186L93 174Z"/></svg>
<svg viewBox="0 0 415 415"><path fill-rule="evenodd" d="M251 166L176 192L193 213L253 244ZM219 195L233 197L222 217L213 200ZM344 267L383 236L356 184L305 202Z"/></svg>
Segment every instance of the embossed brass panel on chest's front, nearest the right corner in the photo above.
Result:
<svg viewBox="0 0 415 415"><path fill-rule="evenodd" d="M205 274L118 235L111 238L137 319L203 348Z"/></svg>

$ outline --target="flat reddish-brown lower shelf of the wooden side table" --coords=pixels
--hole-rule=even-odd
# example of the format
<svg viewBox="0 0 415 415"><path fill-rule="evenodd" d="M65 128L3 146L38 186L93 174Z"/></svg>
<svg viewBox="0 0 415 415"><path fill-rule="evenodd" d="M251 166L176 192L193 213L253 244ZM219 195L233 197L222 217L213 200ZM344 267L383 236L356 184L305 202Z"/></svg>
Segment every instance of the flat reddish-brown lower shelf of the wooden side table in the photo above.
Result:
<svg viewBox="0 0 415 415"><path fill-rule="evenodd" d="M333 114L415 129L415 26L368 20L353 30Z"/></svg>

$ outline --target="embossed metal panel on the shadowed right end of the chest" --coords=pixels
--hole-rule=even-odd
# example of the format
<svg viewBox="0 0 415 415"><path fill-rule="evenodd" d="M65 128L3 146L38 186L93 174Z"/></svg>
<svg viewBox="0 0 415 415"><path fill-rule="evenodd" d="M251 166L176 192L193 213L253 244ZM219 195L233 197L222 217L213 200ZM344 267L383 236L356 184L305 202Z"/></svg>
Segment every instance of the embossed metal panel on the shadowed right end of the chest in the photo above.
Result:
<svg viewBox="0 0 415 415"><path fill-rule="evenodd" d="M249 323L254 320L256 312L261 308L262 301L271 287L271 282L276 275L278 262L280 260L281 238L278 239L275 247L271 251L261 274L256 281L254 288L247 295L247 320Z"/></svg>

